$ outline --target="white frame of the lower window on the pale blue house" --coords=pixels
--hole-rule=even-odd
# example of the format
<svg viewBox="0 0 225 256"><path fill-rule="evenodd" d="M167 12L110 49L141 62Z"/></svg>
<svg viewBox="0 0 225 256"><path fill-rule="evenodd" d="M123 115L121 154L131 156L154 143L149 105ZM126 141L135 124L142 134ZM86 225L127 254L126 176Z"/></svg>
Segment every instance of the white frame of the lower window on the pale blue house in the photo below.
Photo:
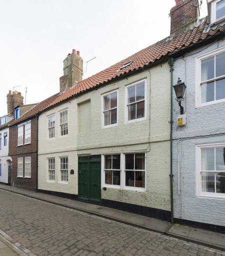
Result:
<svg viewBox="0 0 225 256"><path fill-rule="evenodd" d="M211 193L201 191L201 149L207 148L225 148L225 143L215 143L215 144L200 144L195 146L195 191L197 197L211 197L211 198L225 198L225 194L222 193ZM215 172L215 171L208 171Z"/></svg>

